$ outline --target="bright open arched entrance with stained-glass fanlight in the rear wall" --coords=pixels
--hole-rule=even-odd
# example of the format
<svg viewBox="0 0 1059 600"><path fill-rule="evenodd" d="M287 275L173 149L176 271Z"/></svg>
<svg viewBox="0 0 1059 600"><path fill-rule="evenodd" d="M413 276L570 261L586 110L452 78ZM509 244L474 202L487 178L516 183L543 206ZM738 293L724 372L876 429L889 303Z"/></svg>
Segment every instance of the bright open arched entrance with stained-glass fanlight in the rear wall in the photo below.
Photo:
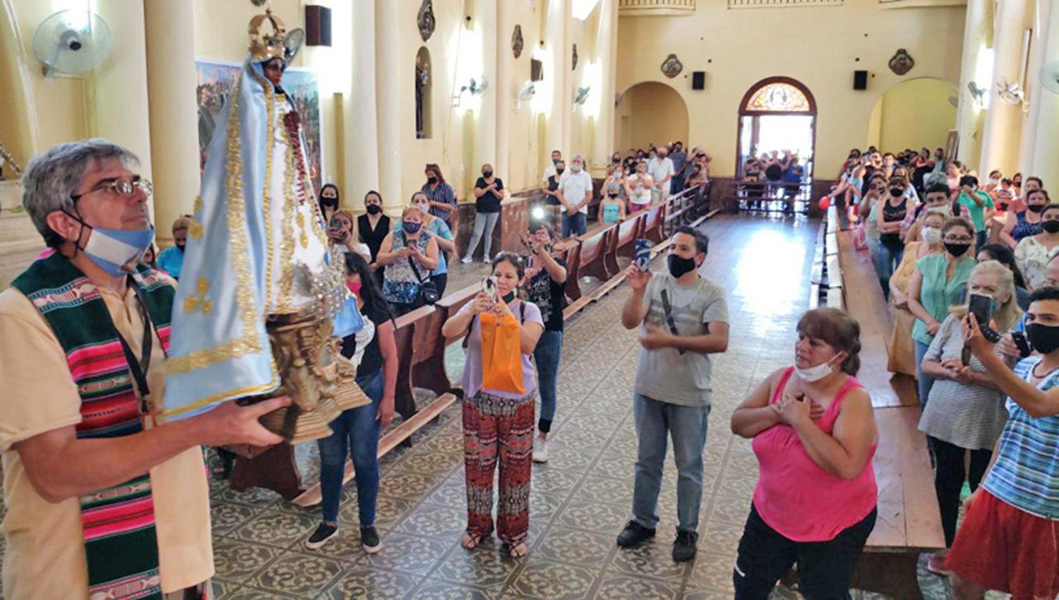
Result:
<svg viewBox="0 0 1059 600"><path fill-rule="evenodd" d="M785 200L784 210L808 210L812 189L813 153L816 146L816 99L801 81L790 77L768 77L747 90L739 104L739 134L736 174L742 179L747 161L776 152L780 160L789 150L798 160L801 181L784 178L757 188L774 200ZM765 170L762 168L762 170ZM793 172L793 171L791 171ZM764 174L762 174L764 179ZM770 178L771 179L771 178ZM755 196L760 192L756 189ZM801 204L801 206L798 206ZM772 202L748 202L749 208L774 208Z"/></svg>

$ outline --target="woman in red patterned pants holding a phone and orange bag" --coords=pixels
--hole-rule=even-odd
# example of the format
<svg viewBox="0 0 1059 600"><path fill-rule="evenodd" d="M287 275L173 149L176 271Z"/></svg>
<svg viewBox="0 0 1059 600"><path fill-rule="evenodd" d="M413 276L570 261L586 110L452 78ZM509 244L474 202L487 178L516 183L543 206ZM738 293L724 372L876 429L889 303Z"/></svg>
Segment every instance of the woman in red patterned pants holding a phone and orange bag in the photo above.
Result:
<svg viewBox="0 0 1059 600"><path fill-rule="evenodd" d="M533 459L534 401L537 376L530 360L544 330L536 305L520 301L516 291L525 276L522 259L501 253L492 259L496 292L479 293L449 319L447 338L467 335L464 367L464 466L467 477L467 532L461 545L477 547L493 529L492 474L500 462L500 506L497 535L514 558L526 553L530 528L530 474ZM485 288L485 286L483 286ZM482 385L482 317L492 314L519 325L522 389L492 389ZM489 320L491 322L491 320Z"/></svg>

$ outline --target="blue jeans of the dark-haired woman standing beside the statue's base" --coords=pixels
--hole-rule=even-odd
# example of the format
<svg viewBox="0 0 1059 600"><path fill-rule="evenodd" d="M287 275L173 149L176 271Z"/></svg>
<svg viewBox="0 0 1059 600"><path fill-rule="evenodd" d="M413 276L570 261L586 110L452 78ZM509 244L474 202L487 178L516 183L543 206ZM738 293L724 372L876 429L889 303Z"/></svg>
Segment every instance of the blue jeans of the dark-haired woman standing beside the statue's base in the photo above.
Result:
<svg viewBox="0 0 1059 600"><path fill-rule="evenodd" d="M342 473L348 451L357 480L357 508L360 526L375 525L375 499L379 495L379 421L375 419L382 400L382 370L357 378L357 385L372 399L371 404L343 412L331 421L334 432L317 442L320 447L320 488L323 494L323 520L338 522Z"/></svg>

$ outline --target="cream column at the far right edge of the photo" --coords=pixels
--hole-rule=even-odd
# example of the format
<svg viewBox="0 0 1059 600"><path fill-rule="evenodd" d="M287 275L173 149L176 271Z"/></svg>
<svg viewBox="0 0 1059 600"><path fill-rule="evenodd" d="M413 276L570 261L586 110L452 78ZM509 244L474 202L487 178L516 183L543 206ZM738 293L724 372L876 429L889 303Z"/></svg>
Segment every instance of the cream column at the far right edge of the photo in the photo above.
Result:
<svg viewBox="0 0 1059 600"><path fill-rule="evenodd" d="M1046 33L1046 38L1041 40L1045 47L1041 62L1059 60L1059 7L1054 7L1046 20L1042 15L1041 26ZM1034 102L1039 112L1038 127L1033 131L1033 163L1023 174L1036 175L1055 189L1059 185L1059 159L1056 158L1059 157L1059 94L1041 89L1039 70L1030 71L1029 77L1038 90Z"/></svg>

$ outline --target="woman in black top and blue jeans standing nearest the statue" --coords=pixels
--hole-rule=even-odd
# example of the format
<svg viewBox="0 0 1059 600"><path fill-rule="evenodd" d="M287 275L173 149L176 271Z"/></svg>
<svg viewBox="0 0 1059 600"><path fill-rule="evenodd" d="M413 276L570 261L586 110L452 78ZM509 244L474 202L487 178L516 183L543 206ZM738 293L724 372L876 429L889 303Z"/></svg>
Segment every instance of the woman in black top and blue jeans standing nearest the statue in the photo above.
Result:
<svg viewBox="0 0 1059 600"><path fill-rule="evenodd" d="M360 331L342 340L342 356L357 366L357 385L371 404L344 411L331 421L330 437L319 440L320 488L323 519L305 542L315 550L338 533L345 458L353 459L360 515L360 545L367 553L382 549L375 530L375 504L379 493L379 432L394 416L397 384L397 344L390 307L375 285L372 270L359 254L345 254L346 286L357 296L364 319Z"/></svg>

